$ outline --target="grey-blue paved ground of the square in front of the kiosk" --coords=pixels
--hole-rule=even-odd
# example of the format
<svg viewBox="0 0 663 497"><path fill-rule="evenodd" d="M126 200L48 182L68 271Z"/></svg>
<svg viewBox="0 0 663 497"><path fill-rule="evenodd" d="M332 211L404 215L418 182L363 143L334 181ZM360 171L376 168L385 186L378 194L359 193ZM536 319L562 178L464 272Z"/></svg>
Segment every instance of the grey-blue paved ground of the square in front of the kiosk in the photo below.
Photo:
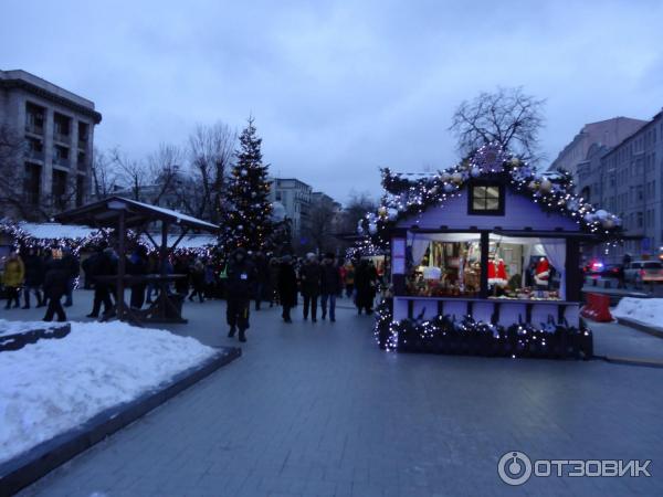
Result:
<svg viewBox="0 0 663 497"><path fill-rule="evenodd" d="M72 319L90 297L76 293ZM252 313L242 358L21 495L663 494L663 369L386 353L372 318L341 305L335 324L302 322L301 307L293 325L276 308ZM189 325L169 328L238 343L225 337L223 303L187 303L185 315ZM509 487L497 475L507 451L652 459L652 477Z"/></svg>

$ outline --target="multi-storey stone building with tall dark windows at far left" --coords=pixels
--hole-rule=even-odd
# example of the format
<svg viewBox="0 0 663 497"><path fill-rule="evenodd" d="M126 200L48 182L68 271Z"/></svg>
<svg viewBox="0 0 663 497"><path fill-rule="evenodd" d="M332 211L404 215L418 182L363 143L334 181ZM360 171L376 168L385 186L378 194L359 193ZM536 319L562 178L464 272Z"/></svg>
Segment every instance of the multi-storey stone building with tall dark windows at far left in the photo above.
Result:
<svg viewBox="0 0 663 497"><path fill-rule="evenodd" d="M94 127L101 120L86 98L25 71L0 71L0 126L21 141L15 172L23 177L22 191L14 194L34 208L29 209L34 218L88 200ZM20 215L4 203L4 215Z"/></svg>

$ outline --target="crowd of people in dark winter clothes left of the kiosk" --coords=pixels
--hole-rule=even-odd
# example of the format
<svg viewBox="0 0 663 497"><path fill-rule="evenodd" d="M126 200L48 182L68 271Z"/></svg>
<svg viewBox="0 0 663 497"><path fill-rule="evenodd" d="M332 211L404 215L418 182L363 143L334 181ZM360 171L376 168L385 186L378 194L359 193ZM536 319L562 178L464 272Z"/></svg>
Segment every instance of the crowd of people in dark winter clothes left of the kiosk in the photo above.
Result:
<svg viewBox="0 0 663 497"><path fill-rule="evenodd" d="M225 298L229 336L246 340L251 302L254 309L267 304L281 306L282 318L292 322L292 311L302 296L302 317L317 322L322 319L336 321L337 298L351 299L358 314L371 314L380 285L380 275L370 260L338 261L333 253L305 257L281 257L234 251L228 261L213 264L211 258L196 254L179 253L164 262L157 254L148 254L137 245L125 261L126 273L133 276L167 274L180 275L167 286L170 295L194 299L202 304L208 298ZM81 272L81 269L83 269ZM30 308L31 296L36 307L46 307L44 320L66 320L64 308L73 305L73 289L81 285L94 289L90 318L107 319L115 314L114 276L118 271L118 256L112 246L99 244L81 263L66 247L28 247L13 251L4 261L2 286L7 297L6 309ZM149 283L149 278L136 278L129 285L129 305L140 309L150 305L162 287ZM64 297L64 303L62 302Z"/></svg>

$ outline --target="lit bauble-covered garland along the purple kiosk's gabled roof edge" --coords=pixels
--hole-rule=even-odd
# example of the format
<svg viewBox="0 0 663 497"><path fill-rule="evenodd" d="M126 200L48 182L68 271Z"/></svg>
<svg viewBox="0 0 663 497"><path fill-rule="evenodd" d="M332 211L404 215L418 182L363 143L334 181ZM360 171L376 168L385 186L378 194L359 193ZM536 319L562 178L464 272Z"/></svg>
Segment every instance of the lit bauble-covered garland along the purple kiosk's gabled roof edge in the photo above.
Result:
<svg viewBox="0 0 663 497"><path fill-rule="evenodd" d="M365 236L365 248L369 244L388 246L390 230L400 219L444 204L459 197L471 179L490 175L506 175L514 191L546 211L573 219L587 233L602 235L607 241L619 240L622 234L621 219L576 194L568 172L540 173L498 144L487 144L461 163L430 177L410 180L388 168L381 173L386 193L380 207L377 212L368 212L357 226L357 232Z"/></svg>

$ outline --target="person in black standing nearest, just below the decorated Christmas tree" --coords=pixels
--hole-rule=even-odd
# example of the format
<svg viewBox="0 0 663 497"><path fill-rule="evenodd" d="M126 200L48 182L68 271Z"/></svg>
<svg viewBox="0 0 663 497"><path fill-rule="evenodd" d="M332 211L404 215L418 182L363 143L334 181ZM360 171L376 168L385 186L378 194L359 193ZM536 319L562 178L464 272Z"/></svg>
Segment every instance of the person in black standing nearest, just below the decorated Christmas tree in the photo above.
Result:
<svg viewBox="0 0 663 497"><path fill-rule="evenodd" d="M255 288L255 266L246 257L244 248L234 251L228 262L228 307L225 318L230 326L229 337L240 330L240 341L246 341L249 307Z"/></svg>

